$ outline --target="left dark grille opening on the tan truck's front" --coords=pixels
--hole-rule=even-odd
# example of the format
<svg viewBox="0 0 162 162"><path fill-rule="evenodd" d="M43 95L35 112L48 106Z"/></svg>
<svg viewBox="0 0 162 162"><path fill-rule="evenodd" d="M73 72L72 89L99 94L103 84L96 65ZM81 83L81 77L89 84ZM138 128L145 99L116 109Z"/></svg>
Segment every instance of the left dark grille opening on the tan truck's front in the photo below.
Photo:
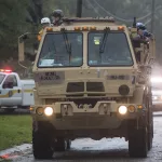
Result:
<svg viewBox="0 0 162 162"><path fill-rule="evenodd" d="M66 92L84 92L84 82L69 82Z"/></svg>

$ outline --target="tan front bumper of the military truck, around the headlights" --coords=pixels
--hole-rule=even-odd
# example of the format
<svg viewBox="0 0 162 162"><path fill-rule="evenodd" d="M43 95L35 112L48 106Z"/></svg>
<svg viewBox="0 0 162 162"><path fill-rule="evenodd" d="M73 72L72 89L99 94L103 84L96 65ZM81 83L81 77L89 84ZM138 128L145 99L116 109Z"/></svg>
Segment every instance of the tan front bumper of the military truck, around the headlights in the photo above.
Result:
<svg viewBox="0 0 162 162"><path fill-rule="evenodd" d="M134 112L127 111L125 114L120 114L118 109L121 105L116 102L97 102L93 108L87 105L78 108L73 102L62 102L54 105L36 105L31 114L37 121L50 121L56 130L118 129L124 120L145 116L145 109L138 109L135 104L124 104L126 107L134 106ZM38 107L43 109L51 107L54 113L50 117L44 113L38 114Z"/></svg>

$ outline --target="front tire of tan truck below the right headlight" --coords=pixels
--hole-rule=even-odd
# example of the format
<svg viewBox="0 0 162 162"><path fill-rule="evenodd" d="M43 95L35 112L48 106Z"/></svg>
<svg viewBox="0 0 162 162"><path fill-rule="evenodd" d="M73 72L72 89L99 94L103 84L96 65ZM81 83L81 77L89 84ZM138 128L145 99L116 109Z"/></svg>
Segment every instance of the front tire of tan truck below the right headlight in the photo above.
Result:
<svg viewBox="0 0 162 162"><path fill-rule="evenodd" d="M130 130L129 133L129 153L133 158L147 158L148 152L148 132L147 127Z"/></svg>

